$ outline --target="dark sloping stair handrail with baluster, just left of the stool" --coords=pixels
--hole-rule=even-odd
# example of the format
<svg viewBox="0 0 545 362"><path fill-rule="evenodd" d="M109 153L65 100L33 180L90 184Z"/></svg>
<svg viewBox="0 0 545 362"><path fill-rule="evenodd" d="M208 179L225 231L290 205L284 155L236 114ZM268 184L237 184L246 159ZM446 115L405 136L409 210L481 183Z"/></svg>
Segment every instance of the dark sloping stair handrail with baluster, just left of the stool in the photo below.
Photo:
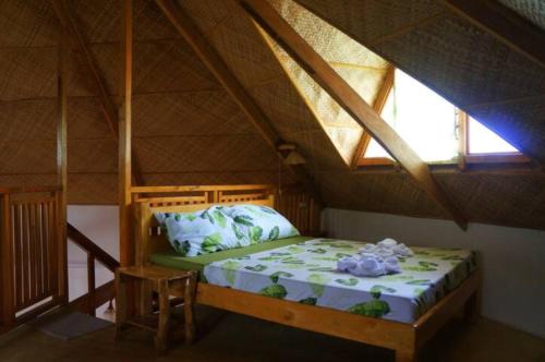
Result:
<svg viewBox="0 0 545 362"><path fill-rule="evenodd" d="M87 253L88 292L70 302L70 305L71 307L83 313L95 315L97 307L105 304L106 302L109 301L111 306L111 301L116 297L116 288L113 281L109 281L98 288L96 287L95 262L104 265L108 270L112 273L114 273L116 268L119 267L119 262L71 224L68 224L66 231L69 239L77 246L80 246L85 253Z"/></svg>

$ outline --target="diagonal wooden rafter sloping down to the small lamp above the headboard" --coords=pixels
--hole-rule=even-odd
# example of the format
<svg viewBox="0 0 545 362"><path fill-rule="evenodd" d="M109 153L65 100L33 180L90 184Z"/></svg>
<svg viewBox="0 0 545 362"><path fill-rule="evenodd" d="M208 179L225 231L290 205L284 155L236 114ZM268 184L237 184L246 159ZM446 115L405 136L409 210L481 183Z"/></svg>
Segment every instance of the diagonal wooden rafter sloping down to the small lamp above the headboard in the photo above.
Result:
<svg viewBox="0 0 545 362"><path fill-rule="evenodd" d="M267 144L272 147L275 153L283 160L283 155L278 147L283 143L280 135L272 128L270 121L261 110L252 96L239 82L237 76L223 62L216 49L202 35L193 20L173 0L156 0L167 19L172 23L175 29L182 35L184 40L195 51L197 57L214 74L216 80L222 85L231 98L239 105L246 118L252 122ZM314 186L311 177L301 165L289 166L296 177L306 185L315 200L322 203L322 198Z"/></svg>

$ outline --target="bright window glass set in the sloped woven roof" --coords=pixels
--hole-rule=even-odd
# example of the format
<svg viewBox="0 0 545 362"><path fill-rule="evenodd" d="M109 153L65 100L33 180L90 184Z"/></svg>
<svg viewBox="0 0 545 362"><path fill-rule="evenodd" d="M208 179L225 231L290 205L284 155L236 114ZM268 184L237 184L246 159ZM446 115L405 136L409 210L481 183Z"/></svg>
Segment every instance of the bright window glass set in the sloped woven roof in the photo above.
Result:
<svg viewBox="0 0 545 362"><path fill-rule="evenodd" d="M456 162L460 157L482 162L487 161L488 155L491 159L498 159L497 155L522 156L477 120L400 70L395 71L380 116L426 162ZM472 158L473 155L479 157ZM391 156L371 140L361 165L391 161Z"/></svg>

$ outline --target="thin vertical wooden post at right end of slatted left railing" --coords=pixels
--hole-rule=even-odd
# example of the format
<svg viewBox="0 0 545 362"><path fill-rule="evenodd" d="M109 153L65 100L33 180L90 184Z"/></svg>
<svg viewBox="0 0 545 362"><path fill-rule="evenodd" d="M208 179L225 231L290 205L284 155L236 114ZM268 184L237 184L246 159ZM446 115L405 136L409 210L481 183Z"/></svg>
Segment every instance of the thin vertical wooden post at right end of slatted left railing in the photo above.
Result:
<svg viewBox="0 0 545 362"><path fill-rule="evenodd" d="M58 236L58 288L61 303L69 301L68 287L68 245L66 245L66 191L68 191L68 73L66 73L66 31L61 26L58 55L58 119L57 119L57 184L61 186L57 197Z"/></svg>

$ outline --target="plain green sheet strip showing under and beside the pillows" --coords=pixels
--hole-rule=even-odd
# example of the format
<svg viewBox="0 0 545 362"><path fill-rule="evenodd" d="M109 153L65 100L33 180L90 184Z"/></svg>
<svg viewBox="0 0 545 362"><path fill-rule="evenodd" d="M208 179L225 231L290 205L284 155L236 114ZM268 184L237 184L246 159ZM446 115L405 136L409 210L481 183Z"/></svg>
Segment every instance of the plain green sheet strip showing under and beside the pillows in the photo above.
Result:
<svg viewBox="0 0 545 362"><path fill-rule="evenodd" d="M152 254L150 261L154 264L182 270L198 270L202 274L204 267L210 263L220 262L227 258L242 257L249 254L269 251L277 248L301 243L313 238L293 237L275 241L262 242L258 244L223 250L221 252L204 254L199 256L181 256L174 250Z"/></svg>

